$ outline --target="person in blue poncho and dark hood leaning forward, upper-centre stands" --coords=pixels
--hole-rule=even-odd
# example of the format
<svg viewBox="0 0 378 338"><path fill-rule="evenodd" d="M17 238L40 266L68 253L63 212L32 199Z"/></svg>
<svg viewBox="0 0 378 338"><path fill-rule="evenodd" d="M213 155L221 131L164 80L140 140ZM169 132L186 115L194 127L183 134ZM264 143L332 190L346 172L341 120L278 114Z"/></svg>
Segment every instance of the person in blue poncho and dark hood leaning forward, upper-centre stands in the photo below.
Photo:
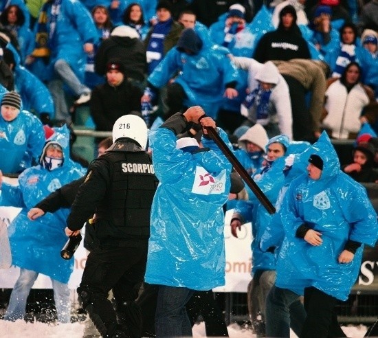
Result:
<svg viewBox="0 0 378 338"><path fill-rule="evenodd" d="M238 95L234 89L238 73L230 59L223 52L203 46L201 38L191 28L181 33L177 46L170 49L148 76L148 87L161 88L177 73L179 75L167 87L168 115L182 111L183 106L199 104L209 116L216 118L224 97Z"/></svg>

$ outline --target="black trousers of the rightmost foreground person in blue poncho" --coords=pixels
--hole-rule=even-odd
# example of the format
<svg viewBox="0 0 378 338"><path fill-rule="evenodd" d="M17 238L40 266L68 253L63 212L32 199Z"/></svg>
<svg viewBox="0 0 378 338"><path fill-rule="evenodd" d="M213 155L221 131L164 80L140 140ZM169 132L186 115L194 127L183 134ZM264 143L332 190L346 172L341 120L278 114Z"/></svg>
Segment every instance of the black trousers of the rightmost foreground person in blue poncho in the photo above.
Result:
<svg viewBox="0 0 378 338"><path fill-rule="evenodd" d="M313 286L304 289L304 321L300 338L346 337L334 311L337 299Z"/></svg>

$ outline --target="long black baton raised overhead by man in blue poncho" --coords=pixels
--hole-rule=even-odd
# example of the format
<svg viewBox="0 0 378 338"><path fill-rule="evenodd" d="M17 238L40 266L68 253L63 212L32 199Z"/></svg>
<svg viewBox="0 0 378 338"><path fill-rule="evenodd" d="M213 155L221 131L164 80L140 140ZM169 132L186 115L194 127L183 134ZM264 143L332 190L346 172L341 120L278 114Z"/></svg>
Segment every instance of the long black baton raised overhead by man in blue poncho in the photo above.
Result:
<svg viewBox="0 0 378 338"><path fill-rule="evenodd" d="M223 155L227 157L227 159L230 161L232 166L235 168L236 172L238 172L239 175L241 175L241 178L247 183L249 188L251 188L252 192L256 195L258 198L258 201L263 204L267 212L269 214L274 214L276 212L276 208L271 204L269 199L267 199L267 196L261 191L260 187L256 184L256 182L252 179L252 177L249 176L247 170L241 165L241 163L236 159L235 155L232 153L230 148L227 147L225 142L223 142L223 139L216 133L216 130L212 127L204 127L206 131L208 131L208 135L213 139L213 141L216 143L216 145L221 149Z"/></svg>

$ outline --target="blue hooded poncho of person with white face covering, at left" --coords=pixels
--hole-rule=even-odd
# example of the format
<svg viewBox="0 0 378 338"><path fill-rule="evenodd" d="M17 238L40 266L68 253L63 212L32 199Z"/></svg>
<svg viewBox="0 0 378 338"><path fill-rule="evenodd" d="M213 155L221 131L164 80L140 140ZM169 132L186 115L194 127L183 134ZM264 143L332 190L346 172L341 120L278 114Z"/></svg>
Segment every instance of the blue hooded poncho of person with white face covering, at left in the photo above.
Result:
<svg viewBox="0 0 378 338"><path fill-rule="evenodd" d="M12 264L67 283L74 260L63 260L60 250L67 241L65 227L69 209L60 209L54 214L47 212L36 221L27 218L27 212L36 203L85 174L84 168L69 159L67 127L55 130L49 141L57 142L63 148L63 166L51 171L41 165L28 168L20 174L19 185L3 183L1 194L6 196L10 205L23 208L8 228Z"/></svg>

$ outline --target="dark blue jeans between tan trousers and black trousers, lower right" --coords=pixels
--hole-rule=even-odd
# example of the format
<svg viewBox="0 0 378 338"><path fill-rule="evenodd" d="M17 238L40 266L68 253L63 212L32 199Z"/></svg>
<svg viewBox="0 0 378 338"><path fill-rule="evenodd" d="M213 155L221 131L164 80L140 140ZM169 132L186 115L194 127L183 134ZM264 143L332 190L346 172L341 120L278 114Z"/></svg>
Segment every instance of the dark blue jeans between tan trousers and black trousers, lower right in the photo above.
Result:
<svg viewBox="0 0 378 338"><path fill-rule="evenodd" d="M290 327L300 336L306 311L297 293L272 286L267 296L265 314L267 337L289 338Z"/></svg>

